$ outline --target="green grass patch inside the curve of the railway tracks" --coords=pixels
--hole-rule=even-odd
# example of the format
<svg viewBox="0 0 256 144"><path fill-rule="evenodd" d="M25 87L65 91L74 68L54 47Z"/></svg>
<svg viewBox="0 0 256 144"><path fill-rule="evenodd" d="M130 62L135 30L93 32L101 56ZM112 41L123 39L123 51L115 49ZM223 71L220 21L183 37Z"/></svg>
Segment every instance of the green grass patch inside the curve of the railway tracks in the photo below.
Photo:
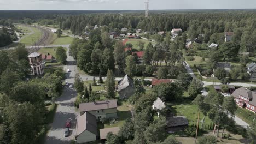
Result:
<svg viewBox="0 0 256 144"><path fill-rule="evenodd" d="M38 41L41 36L43 35L42 32L34 27L31 27L31 29L34 31L33 34L27 35L27 37L20 40L20 43L27 45L33 45L36 41Z"/></svg>

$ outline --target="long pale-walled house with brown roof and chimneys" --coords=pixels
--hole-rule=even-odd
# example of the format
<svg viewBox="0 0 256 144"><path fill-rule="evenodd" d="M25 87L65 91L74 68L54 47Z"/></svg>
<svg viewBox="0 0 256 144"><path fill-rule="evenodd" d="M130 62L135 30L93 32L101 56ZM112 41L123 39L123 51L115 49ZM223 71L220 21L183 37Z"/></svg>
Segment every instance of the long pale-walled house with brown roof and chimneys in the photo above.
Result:
<svg viewBox="0 0 256 144"><path fill-rule="evenodd" d="M102 118L108 119L117 117L117 107L116 99L95 101L91 103L79 104L79 112L80 115L83 115L85 112L89 112L96 116L97 120Z"/></svg>

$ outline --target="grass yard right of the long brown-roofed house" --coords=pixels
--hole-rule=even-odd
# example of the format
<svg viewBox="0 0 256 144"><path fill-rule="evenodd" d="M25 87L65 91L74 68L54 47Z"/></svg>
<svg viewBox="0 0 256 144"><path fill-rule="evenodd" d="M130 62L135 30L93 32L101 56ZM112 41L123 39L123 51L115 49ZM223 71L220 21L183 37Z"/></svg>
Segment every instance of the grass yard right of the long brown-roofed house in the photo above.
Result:
<svg viewBox="0 0 256 144"><path fill-rule="evenodd" d="M131 117L130 110L132 109L132 105L130 105L127 100L118 100L118 105L118 122L110 124L109 121L106 121L104 128L122 127L125 120Z"/></svg>

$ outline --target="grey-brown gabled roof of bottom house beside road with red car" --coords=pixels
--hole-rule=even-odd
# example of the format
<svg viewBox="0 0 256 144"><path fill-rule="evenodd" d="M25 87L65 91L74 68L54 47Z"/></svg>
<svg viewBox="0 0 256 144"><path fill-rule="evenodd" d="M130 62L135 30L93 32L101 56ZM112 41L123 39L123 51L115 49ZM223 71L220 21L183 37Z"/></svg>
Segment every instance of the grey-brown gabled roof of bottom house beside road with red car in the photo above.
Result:
<svg viewBox="0 0 256 144"><path fill-rule="evenodd" d="M77 125L75 128L75 135L79 136L85 130L97 135L97 120L96 116L89 112L85 112L83 115L77 117Z"/></svg>

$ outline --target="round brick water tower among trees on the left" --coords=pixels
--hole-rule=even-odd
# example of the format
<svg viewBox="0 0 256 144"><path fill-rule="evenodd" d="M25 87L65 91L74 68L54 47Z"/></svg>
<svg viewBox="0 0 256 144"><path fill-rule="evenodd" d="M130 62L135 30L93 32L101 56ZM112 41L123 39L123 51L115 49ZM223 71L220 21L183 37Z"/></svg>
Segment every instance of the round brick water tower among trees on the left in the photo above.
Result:
<svg viewBox="0 0 256 144"><path fill-rule="evenodd" d="M30 61L31 74L32 75L43 75L44 68L42 65L42 55L41 53L33 52L28 55Z"/></svg>

